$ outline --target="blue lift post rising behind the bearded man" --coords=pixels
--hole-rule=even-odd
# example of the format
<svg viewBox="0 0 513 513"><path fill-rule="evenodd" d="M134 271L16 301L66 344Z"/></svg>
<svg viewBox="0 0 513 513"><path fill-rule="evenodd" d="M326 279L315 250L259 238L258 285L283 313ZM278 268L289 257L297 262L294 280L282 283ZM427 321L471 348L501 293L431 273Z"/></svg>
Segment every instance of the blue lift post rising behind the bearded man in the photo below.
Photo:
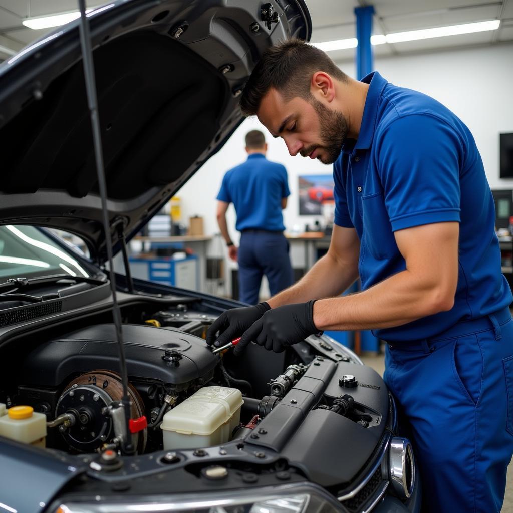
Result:
<svg viewBox="0 0 513 513"><path fill-rule="evenodd" d="M356 47L356 74L358 80L373 71L372 47L370 45L370 36L372 35L372 16L374 7L354 8L356 15L356 37L358 46ZM379 340L373 336L369 330L360 331L360 349L362 351L379 351Z"/></svg>

